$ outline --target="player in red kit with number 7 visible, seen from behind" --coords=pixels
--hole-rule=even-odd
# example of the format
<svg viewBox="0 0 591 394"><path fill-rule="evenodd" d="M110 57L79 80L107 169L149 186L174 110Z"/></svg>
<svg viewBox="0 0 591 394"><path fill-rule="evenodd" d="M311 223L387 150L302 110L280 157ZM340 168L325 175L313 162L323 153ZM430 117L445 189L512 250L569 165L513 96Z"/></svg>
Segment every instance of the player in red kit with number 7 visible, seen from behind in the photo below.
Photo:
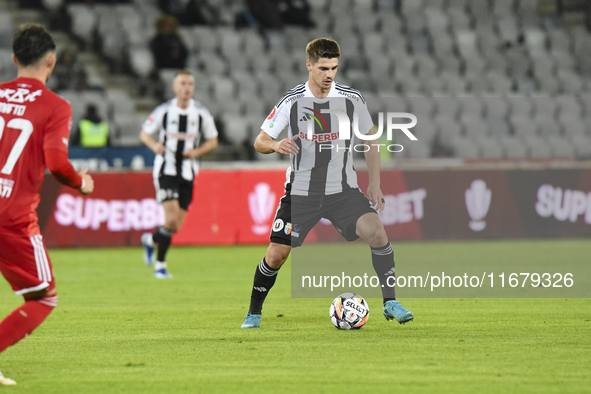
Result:
<svg viewBox="0 0 591 394"><path fill-rule="evenodd" d="M0 272L25 303L0 322L0 353L45 320L57 303L36 208L45 168L88 194L94 182L68 161L70 104L45 87L56 62L55 43L40 25L14 35L14 81L0 84ZM0 385L16 384L0 373Z"/></svg>

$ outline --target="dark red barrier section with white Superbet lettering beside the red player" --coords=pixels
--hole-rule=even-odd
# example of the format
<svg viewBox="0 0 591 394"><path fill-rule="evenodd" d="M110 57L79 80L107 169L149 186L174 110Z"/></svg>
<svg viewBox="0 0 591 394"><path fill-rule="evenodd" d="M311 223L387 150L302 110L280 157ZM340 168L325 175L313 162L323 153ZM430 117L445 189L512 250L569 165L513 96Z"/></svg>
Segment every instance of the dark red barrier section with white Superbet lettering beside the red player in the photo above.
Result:
<svg viewBox="0 0 591 394"><path fill-rule="evenodd" d="M48 246L137 245L142 233L164 224L151 174L92 176L95 190L89 196L45 177L37 211Z"/></svg>

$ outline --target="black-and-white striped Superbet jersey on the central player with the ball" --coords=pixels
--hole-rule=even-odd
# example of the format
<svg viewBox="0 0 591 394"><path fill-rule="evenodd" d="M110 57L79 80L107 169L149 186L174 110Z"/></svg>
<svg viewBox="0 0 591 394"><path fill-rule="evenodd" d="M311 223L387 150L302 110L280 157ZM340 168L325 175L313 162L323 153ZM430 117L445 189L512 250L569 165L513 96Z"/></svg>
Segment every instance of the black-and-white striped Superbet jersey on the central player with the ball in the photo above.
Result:
<svg viewBox="0 0 591 394"><path fill-rule="evenodd" d="M323 110L340 110L348 116L350 139L339 139L337 116ZM261 129L277 138L287 126L290 138L300 136L296 140L300 151L292 155L287 170L293 195L329 195L358 188L352 154L354 114L358 118L360 133L367 134L374 124L365 99L359 91L337 82L332 83L325 98L315 97L306 82L288 91L275 104ZM309 122L311 126L308 126ZM312 125L313 136L309 138L308 127Z"/></svg>

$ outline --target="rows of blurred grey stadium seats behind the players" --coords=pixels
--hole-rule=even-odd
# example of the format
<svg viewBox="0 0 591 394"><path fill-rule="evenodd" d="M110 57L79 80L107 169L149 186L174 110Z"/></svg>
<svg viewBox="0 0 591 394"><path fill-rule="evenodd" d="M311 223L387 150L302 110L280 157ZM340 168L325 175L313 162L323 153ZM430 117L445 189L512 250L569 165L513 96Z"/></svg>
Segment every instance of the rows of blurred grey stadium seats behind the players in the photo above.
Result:
<svg viewBox="0 0 591 394"><path fill-rule="evenodd" d="M17 3L0 1L2 79L13 72L7 43ZM408 143L403 157L591 159L591 34L577 0L308 0L315 27L285 26L279 48L256 25L234 27L248 11L245 2L210 3L221 25L182 26L179 35L196 98L231 147L248 145L277 98L306 80L305 44L330 36L342 47L337 79L375 98L376 119L378 111L418 117L419 141ZM90 73L95 80L128 72L117 79L122 84L103 83L103 91L62 92L75 116L97 100L118 130L114 145L138 144L145 111L172 93L174 70L156 72L149 50L162 15L157 1L44 4L67 13L69 38L84 51L98 48L94 55L107 66L102 75Z"/></svg>

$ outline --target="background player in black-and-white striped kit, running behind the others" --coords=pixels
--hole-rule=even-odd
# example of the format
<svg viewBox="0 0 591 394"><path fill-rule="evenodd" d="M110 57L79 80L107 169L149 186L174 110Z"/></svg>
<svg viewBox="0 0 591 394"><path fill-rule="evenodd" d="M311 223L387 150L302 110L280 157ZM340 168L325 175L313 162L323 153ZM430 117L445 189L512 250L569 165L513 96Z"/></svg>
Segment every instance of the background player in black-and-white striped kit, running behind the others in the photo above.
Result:
<svg viewBox="0 0 591 394"><path fill-rule="evenodd" d="M193 73L179 71L172 88L176 97L158 106L144 123L140 139L154 153L154 186L156 198L164 207L164 226L142 235L144 262L151 266L158 244L154 276L169 279L165 262L171 237L182 226L193 198L193 179L199 169L197 158L218 145L218 131L213 117L201 103L192 99L195 89ZM158 142L152 135L158 132ZM200 146L199 139L205 142Z"/></svg>

